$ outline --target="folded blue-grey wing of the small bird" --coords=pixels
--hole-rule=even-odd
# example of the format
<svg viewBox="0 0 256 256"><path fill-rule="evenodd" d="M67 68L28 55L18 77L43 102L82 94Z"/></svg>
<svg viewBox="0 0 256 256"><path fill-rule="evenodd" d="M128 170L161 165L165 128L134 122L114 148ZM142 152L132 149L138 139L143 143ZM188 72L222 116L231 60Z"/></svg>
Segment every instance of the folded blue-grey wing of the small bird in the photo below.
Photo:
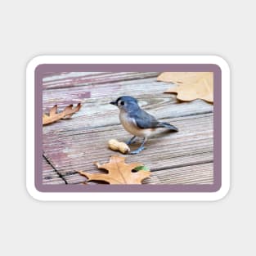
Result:
<svg viewBox="0 0 256 256"><path fill-rule="evenodd" d="M135 119L136 124L139 128L157 128L159 121L155 119L153 115L146 113L144 110L139 110L131 116Z"/></svg>

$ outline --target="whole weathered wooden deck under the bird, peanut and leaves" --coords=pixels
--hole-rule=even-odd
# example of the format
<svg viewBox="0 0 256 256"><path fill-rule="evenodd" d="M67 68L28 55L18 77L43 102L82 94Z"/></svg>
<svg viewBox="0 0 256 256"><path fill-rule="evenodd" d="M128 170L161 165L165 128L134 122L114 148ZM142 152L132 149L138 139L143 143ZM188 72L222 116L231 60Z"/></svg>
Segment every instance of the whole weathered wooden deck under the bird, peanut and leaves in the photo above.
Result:
<svg viewBox="0 0 256 256"><path fill-rule="evenodd" d="M61 73L43 79L43 111L57 104L62 110L82 102L72 119L43 127L43 183L79 184L86 177L76 171L99 172L93 165L108 162L107 141L130 136L119 123L119 110L109 104L122 95L136 97L141 107L179 132L159 132L139 155L126 155L127 163L141 162L152 174L150 184L213 183L213 105L204 101L179 102L163 93L174 86L156 82L159 73ZM140 141L131 146L132 150ZM93 184L93 182L92 182Z"/></svg>

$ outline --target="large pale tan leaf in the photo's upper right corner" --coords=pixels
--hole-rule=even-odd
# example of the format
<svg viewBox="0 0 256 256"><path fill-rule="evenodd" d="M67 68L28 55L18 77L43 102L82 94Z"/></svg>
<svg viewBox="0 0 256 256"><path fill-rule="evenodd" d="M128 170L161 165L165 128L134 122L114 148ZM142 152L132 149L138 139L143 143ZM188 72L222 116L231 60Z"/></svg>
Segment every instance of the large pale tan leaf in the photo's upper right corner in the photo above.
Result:
<svg viewBox="0 0 256 256"><path fill-rule="evenodd" d="M164 72L157 80L177 84L165 93L177 93L180 101L202 99L213 103L213 72Z"/></svg>

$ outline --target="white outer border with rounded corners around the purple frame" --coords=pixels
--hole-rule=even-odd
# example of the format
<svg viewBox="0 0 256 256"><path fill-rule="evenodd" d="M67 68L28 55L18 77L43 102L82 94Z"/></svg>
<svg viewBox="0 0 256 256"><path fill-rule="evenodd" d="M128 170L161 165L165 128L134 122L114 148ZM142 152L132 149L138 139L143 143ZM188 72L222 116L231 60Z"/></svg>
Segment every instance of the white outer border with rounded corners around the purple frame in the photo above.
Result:
<svg viewBox="0 0 256 256"><path fill-rule="evenodd" d="M216 192L40 192L34 186L34 70L41 64L216 64L222 70L222 186ZM230 70L219 56L37 56L26 70L26 185L36 200L220 200L230 187ZM225 104L224 101L225 100Z"/></svg>

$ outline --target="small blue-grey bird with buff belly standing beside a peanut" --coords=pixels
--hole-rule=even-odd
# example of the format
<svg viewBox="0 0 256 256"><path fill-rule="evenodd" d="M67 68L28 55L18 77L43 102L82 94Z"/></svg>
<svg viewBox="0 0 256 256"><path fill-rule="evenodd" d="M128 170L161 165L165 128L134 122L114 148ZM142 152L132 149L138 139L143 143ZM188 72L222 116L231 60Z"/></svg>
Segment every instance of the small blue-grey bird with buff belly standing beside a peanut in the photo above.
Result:
<svg viewBox="0 0 256 256"><path fill-rule="evenodd" d="M171 131L178 132L178 129L172 124L160 122L153 115L142 110L138 105L137 99L134 97L122 96L115 101L111 101L110 104L119 108L119 120L121 124L127 132L133 135L126 143L130 145L136 141L137 137L142 138L141 146L129 154L137 155L141 150L144 150L147 138L157 128L168 128Z"/></svg>

